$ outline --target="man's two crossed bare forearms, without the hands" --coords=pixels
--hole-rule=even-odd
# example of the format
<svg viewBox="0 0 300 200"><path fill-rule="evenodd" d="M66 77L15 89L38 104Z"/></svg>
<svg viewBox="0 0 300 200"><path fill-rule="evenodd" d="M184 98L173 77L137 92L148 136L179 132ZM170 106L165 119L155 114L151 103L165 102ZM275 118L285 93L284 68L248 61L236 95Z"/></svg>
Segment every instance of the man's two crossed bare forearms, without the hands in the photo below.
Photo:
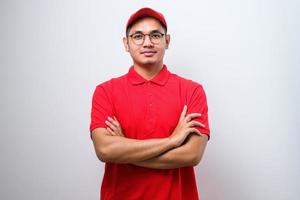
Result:
<svg viewBox="0 0 300 200"><path fill-rule="evenodd" d="M154 169L197 165L207 140L207 135L191 134L184 144L174 147L169 138L135 140L108 135L104 128L93 131L95 151L101 161L130 163Z"/></svg>

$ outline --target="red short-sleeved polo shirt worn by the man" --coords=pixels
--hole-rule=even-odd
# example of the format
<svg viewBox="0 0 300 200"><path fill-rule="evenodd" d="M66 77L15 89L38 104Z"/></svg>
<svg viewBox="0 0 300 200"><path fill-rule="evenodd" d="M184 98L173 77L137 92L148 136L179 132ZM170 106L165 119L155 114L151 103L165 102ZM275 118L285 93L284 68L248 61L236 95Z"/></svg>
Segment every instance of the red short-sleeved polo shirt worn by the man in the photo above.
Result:
<svg viewBox="0 0 300 200"><path fill-rule="evenodd" d="M209 136L208 109L202 86L170 73L166 65L151 80L130 67L127 74L98 85L92 101L90 132L106 128L108 116L116 116L125 137L164 138L175 129L183 106L187 113L201 113L197 129ZM105 164L102 200L198 199L193 167L150 169L132 164Z"/></svg>

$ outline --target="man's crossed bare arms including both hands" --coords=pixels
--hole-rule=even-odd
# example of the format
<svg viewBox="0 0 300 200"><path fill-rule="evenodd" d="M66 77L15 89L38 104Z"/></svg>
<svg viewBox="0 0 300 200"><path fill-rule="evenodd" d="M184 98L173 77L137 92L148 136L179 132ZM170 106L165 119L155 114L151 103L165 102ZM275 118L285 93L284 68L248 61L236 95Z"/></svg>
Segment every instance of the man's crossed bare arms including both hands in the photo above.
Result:
<svg viewBox="0 0 300 200"><path fill-rule="evenodd" d="M92 133L96 154L103 162L127 163L154 169L195 166L202 158L208 137L194 128L204 126L192 121L199 114L185 115L186 107L170 137L148 140L124 137L118 121L109 118L109 128L96 128Z"/></svg>

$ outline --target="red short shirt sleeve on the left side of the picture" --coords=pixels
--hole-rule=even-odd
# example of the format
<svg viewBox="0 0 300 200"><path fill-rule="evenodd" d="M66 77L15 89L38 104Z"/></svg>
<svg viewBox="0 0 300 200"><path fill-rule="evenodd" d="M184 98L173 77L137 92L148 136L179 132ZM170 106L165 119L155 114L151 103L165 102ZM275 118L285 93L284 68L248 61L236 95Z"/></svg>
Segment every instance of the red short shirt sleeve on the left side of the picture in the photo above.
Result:
<svg viewBox="0 0 300 200"><path fill-rule="evenodd" d="M92 98L90 137L95 128L106 128L105 120L113 116L113 108L107 92L102 85L98 85Z"/></svg>

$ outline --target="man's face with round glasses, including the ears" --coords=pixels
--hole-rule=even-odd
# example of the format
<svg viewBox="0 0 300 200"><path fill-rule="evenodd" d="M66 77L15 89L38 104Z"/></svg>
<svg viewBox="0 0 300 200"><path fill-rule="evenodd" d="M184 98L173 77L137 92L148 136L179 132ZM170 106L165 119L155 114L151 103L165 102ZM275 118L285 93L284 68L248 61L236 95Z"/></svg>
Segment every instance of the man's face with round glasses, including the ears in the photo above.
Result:
<svg viewBox="0 0 300 200"><path fill-rule="evenodd" d="M135 37L136 34L138 34L137 37ZM140 38L143 34L146 34L144 40L137 42L136 38ZM162 38L156 39L159 35ZM152 41L150 37L152 37ZM152 66L163 63L165 49L169 45L170 36L166 35L158 20L147 17L133 24L128 36L123 38L123 42L134 64L138 66Z"/></svg>

